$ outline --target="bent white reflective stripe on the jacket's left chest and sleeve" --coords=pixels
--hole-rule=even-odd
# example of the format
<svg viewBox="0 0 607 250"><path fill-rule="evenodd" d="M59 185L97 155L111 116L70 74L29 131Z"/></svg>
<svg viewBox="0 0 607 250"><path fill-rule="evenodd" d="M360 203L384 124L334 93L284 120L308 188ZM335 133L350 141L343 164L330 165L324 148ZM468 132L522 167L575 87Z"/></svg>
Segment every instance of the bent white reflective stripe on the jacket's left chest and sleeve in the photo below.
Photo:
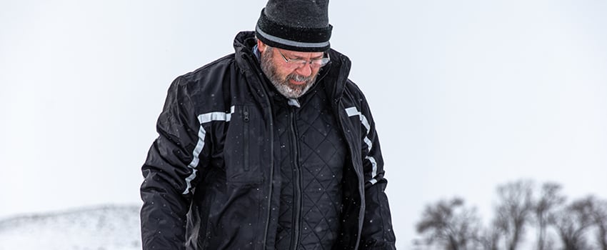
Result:
<svg viewBox="0 0 607 250"><path fill-rule="evenodd" d="M198 121L200 122L200 129L198 131L198 142L196 143L196 147L194 148L194 152L192 153L192 161L188 164L188 167L192 169L192 174L186 177L186 190L183 194L188 194L191 188L191 182L196 178L196 166L198 166L200 161L200 153L202 149L204 149L204 137L206 136L206 130L204 130L203 124L209 123L211 121L230 121L232 114L234 114L234 106L230 107L230 113L225 112L210 112L206 114L201 114L198 116Z"/></svg>

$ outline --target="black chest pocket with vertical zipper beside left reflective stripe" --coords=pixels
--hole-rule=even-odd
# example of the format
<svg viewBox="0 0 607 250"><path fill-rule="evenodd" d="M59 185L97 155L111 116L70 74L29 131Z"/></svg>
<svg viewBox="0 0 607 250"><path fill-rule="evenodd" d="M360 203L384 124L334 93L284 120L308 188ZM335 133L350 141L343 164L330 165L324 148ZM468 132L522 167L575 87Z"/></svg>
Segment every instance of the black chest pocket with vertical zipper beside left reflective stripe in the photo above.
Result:
<svg viewBox="0 0 607 250"><path fill-rule="evenodd" d="M226 181L234 186L261 184L265 164L262 164L265 146L264 119L254 104L234 106L226 142L224 161ZM269 166L269 164L267 164Z"/></svg>

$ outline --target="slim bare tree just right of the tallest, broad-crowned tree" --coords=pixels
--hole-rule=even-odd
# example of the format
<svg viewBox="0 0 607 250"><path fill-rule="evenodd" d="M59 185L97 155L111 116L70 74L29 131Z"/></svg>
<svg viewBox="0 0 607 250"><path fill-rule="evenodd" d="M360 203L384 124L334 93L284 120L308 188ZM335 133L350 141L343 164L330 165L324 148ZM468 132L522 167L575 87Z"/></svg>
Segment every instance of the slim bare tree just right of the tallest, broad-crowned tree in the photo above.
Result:
<svg viewBox="0 0 607 250"><path fill-rule="evenodd" d="M542 185L540 196L533 204L538 225L538 250L546 248L546 229L554 222L554 211L565 202L565 196L561 195L561 185L547 182Z"/></svg>

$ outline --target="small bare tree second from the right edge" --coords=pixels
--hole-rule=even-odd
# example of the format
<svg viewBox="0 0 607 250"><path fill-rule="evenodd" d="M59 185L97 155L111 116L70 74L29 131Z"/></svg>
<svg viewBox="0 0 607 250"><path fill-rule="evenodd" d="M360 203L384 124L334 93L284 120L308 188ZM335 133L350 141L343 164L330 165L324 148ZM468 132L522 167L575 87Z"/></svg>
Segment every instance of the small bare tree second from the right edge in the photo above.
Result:
<svg viewBox="0 0 607 250"><path fill-rule="evenodd" d="M561 237L563 249L581 250L587 249L585 233L593 224L592 220L593 199L592 197L573 201L572 204L562 209L556 219L556 229Z"/></svg>

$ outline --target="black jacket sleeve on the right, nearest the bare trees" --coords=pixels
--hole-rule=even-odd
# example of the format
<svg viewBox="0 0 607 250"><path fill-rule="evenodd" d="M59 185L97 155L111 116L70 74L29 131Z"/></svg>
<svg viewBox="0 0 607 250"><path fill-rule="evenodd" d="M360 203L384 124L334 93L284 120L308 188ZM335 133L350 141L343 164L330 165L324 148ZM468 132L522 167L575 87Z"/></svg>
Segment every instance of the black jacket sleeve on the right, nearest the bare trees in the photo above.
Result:
<svg viewBox="0 0 607 250"><path fill-rule="evenodd" d="M388 181L383 178L383 157L371 110L361 99L362 161L365 178L365 218L361 232L361 249L396 249L388 197Z"/></svg>

